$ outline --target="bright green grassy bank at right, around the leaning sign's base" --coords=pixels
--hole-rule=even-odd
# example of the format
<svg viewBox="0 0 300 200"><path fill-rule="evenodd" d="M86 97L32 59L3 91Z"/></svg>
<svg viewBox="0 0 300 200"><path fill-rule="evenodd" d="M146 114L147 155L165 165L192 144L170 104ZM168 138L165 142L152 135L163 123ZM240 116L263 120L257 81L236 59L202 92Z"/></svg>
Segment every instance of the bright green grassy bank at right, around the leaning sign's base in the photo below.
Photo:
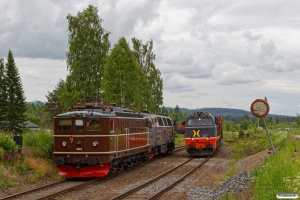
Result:
<svg viewBox="0 0 300 200"><path fill-rule="evenodd" d="M244 192L223 196L221 199L277 199L281 192L300 194L300 141L293 135L300 135L300 129L269 130L276 156L268 157L261 166L251 173L252 184ZM237 136L239 138L239 136ZM230 143L233 153L231 165L238 159L269 148L270 143L265 130L250 133ZM232 169L231 169L232 170Z"/></svg>

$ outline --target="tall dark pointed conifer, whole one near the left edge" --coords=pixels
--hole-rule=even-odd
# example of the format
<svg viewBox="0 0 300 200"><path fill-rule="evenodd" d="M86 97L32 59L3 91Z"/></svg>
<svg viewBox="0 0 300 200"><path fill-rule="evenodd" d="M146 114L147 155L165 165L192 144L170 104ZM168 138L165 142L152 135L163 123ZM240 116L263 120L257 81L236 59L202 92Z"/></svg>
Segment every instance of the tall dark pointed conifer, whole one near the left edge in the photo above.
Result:
<svg viewBox="0 0 300 200"><path fill-rule="evenodd" d="M8 52L5 72L4 81L7 87L7 113L5 114L7 124L5 129L8 132L20 134L24 128L23 122L26 120L26 102L20 74L11 51Z"/></svg>

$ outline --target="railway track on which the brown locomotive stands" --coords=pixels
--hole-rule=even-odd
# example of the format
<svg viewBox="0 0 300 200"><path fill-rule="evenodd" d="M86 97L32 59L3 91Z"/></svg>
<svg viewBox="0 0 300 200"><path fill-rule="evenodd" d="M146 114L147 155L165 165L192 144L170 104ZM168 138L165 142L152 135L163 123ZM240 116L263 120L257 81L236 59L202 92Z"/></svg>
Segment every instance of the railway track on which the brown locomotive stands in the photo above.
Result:
<svg viewBox="0 0 300 200"><path fill-rule="evenodd" d="M183 149L184 149L184 146L180 146L180 147L175 148L173 152L180 151L180 150L183 150ZM160 157L161 156L159 156L157 158L160 158ZM156 159L147 160L143 164L152 162L154 160L156 160ZM139 166L140 165L133 166L131 168L126 169L125 171L134 169L134 168L139 167ZM18 194L3 197L3 198L0 198L0 200L7 200L7 199L39 199L39 200L41 200L41 199L51 199L51 198L54 198L56 196L74 191L76 189L94 184L96 182L101 182L101 181L113 178L113 177L117 176L118 174L120 174L122 172L123 171L119 171L115 174L109 174L108 176L105 176L105 177L102 177L102 178L95 178L95 179L92 179L92 180L68 179L68 180L64 180L64 181L59 181L59 182L52 183L52 184L49 184L49 185L45 185L45 186L42 186L42 187L39 187L39 188L35 188L35 189L28 190L28 191L25 191L25 192L21 192L21 193L18 193ZM49 190L49 191L47 191L47 190Z"/></svg>

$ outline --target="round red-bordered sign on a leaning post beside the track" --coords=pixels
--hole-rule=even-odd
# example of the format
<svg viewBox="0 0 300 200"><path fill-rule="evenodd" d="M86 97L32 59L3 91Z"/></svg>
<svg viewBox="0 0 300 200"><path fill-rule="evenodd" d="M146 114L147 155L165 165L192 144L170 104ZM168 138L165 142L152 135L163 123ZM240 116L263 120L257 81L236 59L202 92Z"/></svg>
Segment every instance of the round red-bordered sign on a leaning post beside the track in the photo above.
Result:
<svg viewBox="0 0 300 200"><path fill-rule="evenodd" d="M276 155L275 154L275 149L273 147L272 140L271 140L271 137L270 137L270 134L269 134L269 131L268 131L267 123L266 123L266 120L265 120L265 116L267 116L267 114L269 113L269 110L270 110L270 107L269 107L269 104L267 102L267 99L266 100L256 99L251 104L250 110L251 110L251 113L255 117L263 118L264 124L265 124L265 127L266 127L267 136L269 138L270 146L271 146L271 148L273 150L273 154Z"/></svg>

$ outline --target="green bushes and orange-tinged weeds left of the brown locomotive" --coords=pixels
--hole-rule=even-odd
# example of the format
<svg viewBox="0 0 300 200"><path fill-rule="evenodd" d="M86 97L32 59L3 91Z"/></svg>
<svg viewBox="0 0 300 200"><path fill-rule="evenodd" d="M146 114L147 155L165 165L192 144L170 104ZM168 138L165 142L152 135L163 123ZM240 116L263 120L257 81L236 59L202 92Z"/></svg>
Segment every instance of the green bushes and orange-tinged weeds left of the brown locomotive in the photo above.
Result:
<svg viewBox="0 0 300 200"><path fill-rule="evenodd" d="M18 153L13 136L0 134L0 188L35 182L43 177L60 179L53 164L52 134L28 131L22 136L22 151Z"/></svg>

